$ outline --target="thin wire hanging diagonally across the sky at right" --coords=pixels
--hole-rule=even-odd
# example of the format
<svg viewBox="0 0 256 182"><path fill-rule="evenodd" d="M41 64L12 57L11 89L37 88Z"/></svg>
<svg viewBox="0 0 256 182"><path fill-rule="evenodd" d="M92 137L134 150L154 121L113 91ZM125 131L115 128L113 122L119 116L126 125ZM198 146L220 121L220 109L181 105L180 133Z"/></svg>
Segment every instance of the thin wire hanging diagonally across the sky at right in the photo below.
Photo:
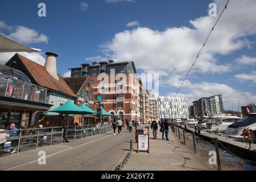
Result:
<svg viewBox="0 0 256 182"><path fill-rule="evenodd" d="M212 32L214 31L214 28L215 28L216 24L217 24L218 21L220 20L220 18L221 18L221 16L222 16L222 14L224 13L224 11L225 11L226 9L228 9L228 3L229 3L229 1L230 1L230 0L228 0L228 2L226 2L226 5L225 5L224 9L221 11L220 16L218 16L218 19L217 19L216 23L215 23L214 26L212 27L212 30L210 31L209 35L207 36L207 39L205 40L203 46L201 47L199 53L197 54L195 61L193 62L191 68L189 69L187 75L185 76L183 82L181 83L181 85L180 85L179 89L177 90L177 92L176 92L176 94L175 94L174 97L176 97L177 94L180 92L180 89L181 89L181 87L183 86L184 82L187 80L189 73L191 72L192 68L195 66L197 59L199 59L199 56L200 56L201 51L202 51L203 48L205 47L205 45L206 45L206 43L207 43L207 41L208 41L210 35L211 35Z"/></svg>

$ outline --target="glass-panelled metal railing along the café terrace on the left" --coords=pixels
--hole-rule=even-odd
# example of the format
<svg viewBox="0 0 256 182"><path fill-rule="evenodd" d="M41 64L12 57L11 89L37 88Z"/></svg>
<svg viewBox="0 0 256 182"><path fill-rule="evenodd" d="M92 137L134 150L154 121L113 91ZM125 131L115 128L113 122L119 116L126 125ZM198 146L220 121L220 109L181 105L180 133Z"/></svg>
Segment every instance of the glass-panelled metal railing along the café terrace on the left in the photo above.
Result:
<svg viewBox="0 0 256 182"><path fill-rule="evenodd" d="M86 125L69 126L67 129L68 139L81 139L93 135L108 133L112 130L110 125ZM7 130L10 137L0 147L0 156L9 152L19 153L28 149L36 149L42 146L52 146L63 142L63 127L45 127L24 130Z"/></svg>

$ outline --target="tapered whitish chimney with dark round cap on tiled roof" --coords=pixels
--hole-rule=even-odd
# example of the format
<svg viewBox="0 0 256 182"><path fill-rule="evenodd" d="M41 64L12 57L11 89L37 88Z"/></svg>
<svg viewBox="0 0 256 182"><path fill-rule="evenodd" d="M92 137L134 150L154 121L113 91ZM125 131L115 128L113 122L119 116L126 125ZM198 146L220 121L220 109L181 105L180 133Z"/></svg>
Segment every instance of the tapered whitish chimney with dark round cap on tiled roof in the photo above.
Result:
<svg viewBox="0 0 256 182"><path fill-rule="evenodd" d="M56 57L58 55L54 52L46 52L46 64L44 67L47 69L48 73L53 76L57 81L59 81L59 77L57 75L57 65L56 65Z"/></svg>

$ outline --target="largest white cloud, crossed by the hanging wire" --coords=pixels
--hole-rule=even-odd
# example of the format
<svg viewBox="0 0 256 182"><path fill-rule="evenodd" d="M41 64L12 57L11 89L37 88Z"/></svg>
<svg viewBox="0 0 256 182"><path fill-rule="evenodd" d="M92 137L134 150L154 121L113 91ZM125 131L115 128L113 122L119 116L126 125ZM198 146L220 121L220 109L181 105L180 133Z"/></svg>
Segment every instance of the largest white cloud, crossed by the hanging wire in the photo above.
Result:
<svg viewBox="0 0 256 182"><path fill-rule="evenodd" d="M224 1L215 1L224 7ZM246 6L245 6L246 5ZM243 8L241 8L243 7ZM256 34L256 1L233 0L214 28L193 72L225 73L232 65L221 63L216 55L228 55L248 47L245 36ZM217 17L202 16L191 20L190 27L170 27L164 31L138 27L115 34L102 50L115 60L135 60L137 68L145 71L187 72Z"/></svg>

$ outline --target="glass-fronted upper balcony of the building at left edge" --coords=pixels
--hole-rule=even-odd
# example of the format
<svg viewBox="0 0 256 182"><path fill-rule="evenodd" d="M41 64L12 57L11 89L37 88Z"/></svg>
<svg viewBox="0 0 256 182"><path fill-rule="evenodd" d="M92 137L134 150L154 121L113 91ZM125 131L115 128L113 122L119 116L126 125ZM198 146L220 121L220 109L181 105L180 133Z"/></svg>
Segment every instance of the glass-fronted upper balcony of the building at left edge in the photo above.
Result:
<svg viewBox="0 0 256 182"><path fill-rule="evenodd" d="M46 104L47 89L0 75L0 96Z"/></svg>

